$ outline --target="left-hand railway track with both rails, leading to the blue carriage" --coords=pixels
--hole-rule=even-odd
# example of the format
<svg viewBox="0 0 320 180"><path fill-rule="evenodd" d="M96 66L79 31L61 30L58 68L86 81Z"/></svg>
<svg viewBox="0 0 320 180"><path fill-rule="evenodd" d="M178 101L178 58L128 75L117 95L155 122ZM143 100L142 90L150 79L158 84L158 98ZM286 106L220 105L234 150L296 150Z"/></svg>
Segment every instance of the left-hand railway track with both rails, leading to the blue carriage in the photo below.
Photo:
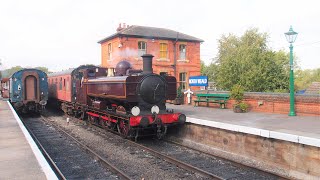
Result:
<svg viewBox="0 0 320 180"><path fill-rule="evenodd" d="M59 179L130 179L98 153L44 117L22 119Z"/></svg>

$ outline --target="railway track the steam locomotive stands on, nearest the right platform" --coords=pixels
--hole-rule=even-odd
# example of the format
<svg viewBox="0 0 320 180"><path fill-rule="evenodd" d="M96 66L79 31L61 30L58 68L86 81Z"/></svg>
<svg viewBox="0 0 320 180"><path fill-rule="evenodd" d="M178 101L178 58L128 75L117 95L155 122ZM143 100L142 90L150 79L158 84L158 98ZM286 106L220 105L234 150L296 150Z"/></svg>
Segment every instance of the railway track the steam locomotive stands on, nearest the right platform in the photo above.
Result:
<svg viewBox="0 0 320 180"><path fill-rule="evenodd" d="M78 122L78 120L75 120ZM87 128L89 131L110 139L110 132L92 126ZM124 140L131 146L136 146L143 151L151 153L160 159L165 160L175 166L187 171L200 174L206 179L279 179L280 177L260 170L241 166L221 158L205 155L192 149L172 144L164 141L140 141L135 143L130 140ZM142 142L142 143L141 143ZM153 143L152 143L153 142ZM171 145L170 145L171 144ZM179 150L179 151L178 151Z"/></svg>

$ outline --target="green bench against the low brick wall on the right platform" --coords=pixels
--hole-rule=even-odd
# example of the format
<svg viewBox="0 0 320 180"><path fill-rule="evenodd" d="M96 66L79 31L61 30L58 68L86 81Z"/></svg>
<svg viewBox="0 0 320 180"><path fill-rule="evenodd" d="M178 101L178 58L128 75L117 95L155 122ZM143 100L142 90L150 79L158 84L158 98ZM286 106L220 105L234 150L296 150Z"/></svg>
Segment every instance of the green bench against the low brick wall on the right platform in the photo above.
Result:
<svg viewBox="0 0 320 180"><path fill-rule="evenodd" d="M228 99L230 98L229 94L196 94L197 99L194 100L194 106L197 104L199 106L200 102L207 103L207 107L209 103L217 103L220 105L220 109L225 109Z"/></svg>

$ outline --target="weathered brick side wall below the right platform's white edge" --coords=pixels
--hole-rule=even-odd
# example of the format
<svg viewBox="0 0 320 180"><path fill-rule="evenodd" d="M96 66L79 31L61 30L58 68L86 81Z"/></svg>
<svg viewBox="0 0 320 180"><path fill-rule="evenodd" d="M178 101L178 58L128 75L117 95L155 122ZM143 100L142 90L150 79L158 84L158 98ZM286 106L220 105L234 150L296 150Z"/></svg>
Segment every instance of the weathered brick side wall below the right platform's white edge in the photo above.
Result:
<svg viewBox="0 0 320 180"><path fill-rule="evenodd" d="M191 123L169 129L168 138L289 179L317 179L320 176L319 147Z"/></svg>

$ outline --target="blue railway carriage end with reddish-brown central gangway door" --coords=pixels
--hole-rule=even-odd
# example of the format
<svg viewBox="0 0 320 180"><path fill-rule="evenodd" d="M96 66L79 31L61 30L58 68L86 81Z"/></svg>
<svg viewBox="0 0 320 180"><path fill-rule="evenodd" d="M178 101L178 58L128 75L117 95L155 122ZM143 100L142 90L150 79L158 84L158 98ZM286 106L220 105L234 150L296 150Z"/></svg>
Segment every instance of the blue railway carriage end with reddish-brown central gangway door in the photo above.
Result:
<svg viewBox="0 0 320 180"><path fill-rule="evenodd" d="M10 77L10 102L20 113L39 113L48 100L47 74L38 69L22 69Z"/></svg>

